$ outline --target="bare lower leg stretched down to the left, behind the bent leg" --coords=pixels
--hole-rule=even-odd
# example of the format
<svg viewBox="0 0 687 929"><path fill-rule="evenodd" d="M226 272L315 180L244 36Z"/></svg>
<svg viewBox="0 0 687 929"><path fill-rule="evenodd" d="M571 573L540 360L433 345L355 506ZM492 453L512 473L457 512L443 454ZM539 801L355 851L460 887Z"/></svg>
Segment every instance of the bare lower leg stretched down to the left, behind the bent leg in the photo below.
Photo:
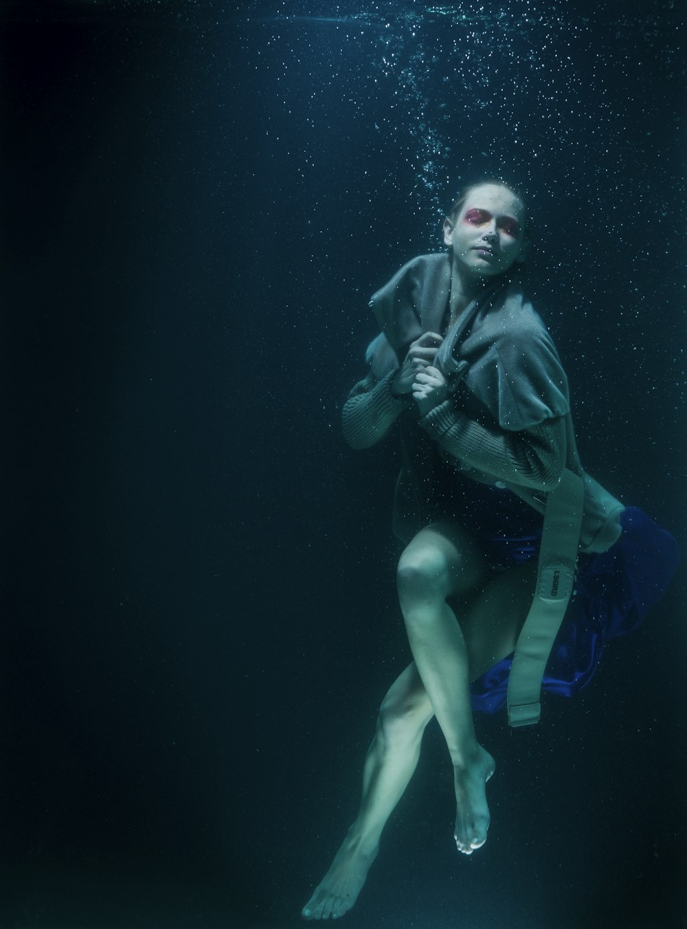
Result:
<svg viewBox="0 0 687 929"><path fill-rule="evenodd" d="M382 829L418 764L422 733L433 715L411 664L382 702L377 731L365 759L360 810L330 870L305 904L305 919L343 916L356 902L369 866L377 857Z"/></svg>

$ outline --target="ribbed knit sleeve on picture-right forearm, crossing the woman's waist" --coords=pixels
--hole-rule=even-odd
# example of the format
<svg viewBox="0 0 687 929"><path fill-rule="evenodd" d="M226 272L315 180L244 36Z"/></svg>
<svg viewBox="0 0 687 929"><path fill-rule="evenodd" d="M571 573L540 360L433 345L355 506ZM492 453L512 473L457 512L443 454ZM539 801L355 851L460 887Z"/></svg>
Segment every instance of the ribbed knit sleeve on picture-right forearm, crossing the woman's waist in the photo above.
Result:
<svg viewBox="0 0 687 929"><path fill-rule="evenodd" d="M421 426L462 464L495 478L551 491L565 467L565 419L557 416L520 432L487 428L445 400L422 416Z"/></svg>

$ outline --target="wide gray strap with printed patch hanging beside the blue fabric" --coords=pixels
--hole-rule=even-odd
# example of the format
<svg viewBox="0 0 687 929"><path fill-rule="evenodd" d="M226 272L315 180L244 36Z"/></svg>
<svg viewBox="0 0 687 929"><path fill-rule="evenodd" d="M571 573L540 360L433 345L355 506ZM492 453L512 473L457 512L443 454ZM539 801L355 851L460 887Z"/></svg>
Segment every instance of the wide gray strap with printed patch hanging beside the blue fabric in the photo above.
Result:
<svg viewBox="0 0 687 929"><path fill-rule="evenodd" d="M584 484L567 468L547 495L539 548L537 591L518 636L508 682L508 722L539 721L541 681L575 583Z"/></svg>

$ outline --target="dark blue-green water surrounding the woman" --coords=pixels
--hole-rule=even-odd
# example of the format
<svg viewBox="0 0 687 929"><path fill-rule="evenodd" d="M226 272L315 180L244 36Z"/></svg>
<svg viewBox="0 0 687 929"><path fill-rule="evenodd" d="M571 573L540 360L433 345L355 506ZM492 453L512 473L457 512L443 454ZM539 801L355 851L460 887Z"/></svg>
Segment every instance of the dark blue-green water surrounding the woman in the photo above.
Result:
<svg viewBox="0 0 687 929"><path fill-rule="evenodd" d="M499 175L586 466L684 548L683 6L73 2L2 20L0 925L299 924L408 661L369 294ZM683 927L684 580L536 732L436 731L355 927Z"/></svg>

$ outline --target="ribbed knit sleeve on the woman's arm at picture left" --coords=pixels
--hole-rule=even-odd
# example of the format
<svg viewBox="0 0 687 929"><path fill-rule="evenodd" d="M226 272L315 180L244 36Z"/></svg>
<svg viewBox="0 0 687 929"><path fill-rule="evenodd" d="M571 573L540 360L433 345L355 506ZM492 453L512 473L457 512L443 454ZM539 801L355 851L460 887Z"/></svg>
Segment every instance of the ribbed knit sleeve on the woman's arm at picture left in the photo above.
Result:
<svg viewBox="0 0 687 929"><path fill-rule="evenodd" d="M412 404L412 398L396 398L389 386L395 371L381 381L370 373L351 390L344 403L344 438L354 449L368 449L388 433L399 415Z"/></svg>

